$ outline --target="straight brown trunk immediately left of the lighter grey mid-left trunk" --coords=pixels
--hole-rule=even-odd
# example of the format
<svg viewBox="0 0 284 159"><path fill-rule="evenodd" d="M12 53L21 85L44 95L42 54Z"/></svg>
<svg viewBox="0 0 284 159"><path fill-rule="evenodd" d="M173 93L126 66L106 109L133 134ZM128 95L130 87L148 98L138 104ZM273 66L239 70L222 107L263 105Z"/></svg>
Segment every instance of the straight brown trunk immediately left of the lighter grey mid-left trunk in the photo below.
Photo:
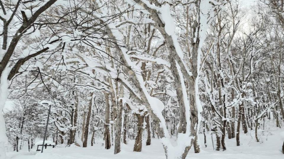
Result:
<svg viewBox="0 0 284 159"><path fill-rule="evenodd" d="M110 149L111 147L111 138L109 132L109 94L104 93L104 99L106 102L106 110L105 110L105 121L104 124L104 140L105 140L105 149Z"/></svg>

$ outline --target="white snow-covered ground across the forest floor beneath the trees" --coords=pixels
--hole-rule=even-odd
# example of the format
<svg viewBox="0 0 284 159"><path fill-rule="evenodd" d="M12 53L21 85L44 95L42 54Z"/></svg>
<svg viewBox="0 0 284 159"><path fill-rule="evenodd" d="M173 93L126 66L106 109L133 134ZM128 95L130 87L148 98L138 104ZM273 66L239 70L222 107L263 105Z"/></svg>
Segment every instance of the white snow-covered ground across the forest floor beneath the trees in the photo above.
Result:
<svg viewBox="0 0 284 159"><path fill-rule="evenodd" d="M284 159L281 152L283 131L260 132L262 143L256 143L254 131L248 134L241 134L241 146L235 146L234 139L226 139L226 151L213 151L211 136L207 135L207 148L204 146L203 134L200 134L201 153L193 153L193 149L188 153L188 159ZM119 154L113 154L113 147L105 150L99 142L94 146L81 148L76 146L57 147L44 149L43 153L31 151L27 153L22 150L18 153L7 153L8 159L165 159L164 150L158 139L153 139L149 146L143 142L142 152L133 152L134 141L129 141L128 145L122 144L122 151ZM34 148L33 148L34 149ZM35 149L34 149L35 150Z"/></svg>

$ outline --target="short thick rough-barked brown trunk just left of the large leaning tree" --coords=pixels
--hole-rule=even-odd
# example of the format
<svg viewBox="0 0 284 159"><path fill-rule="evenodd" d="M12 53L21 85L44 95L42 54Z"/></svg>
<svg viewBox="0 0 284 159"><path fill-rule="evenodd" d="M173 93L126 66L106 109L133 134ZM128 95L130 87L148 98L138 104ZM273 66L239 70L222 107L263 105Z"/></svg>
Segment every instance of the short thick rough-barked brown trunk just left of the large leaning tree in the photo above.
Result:
<svg viewBox="0 0 284 159"><path fill-rule="evenodd" d="M136 116L137 116L137 119L138 119L138 124L137 124L137 135L136 135L136 138L135 138L133 151L141 152L141 150L142 150L144 115L136 114Z"/></svg>

